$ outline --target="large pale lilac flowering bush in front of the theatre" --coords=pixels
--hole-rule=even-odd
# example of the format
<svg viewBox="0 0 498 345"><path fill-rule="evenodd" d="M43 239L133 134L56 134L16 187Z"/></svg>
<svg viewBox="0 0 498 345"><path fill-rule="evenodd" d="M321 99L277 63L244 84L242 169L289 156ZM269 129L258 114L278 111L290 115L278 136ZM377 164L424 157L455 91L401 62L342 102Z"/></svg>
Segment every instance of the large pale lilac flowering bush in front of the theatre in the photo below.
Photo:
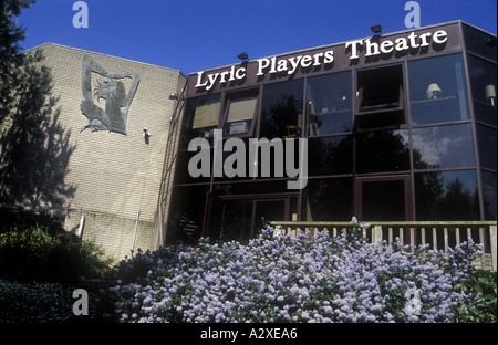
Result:
<svg viewBox="0 0 498 345"><path fill-rule="evenodd" d="M346 236L263 230L248 245L209 243L139 252L103 291L120 322L458 322L478 300L465 286L480 254L369 244ZM495 282L496 304L496 282ZM495 309L496 313L496 309ZM496 317L495 317L496 321Z"/></svg>

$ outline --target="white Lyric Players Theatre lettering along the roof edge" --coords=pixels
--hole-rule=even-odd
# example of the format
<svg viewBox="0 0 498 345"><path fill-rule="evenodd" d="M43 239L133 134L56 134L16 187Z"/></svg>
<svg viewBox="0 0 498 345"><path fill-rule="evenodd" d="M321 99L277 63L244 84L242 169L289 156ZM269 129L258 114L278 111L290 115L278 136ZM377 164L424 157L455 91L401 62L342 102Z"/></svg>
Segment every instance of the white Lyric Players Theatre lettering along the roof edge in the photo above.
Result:
<svg viewBox="0 0 498 345"><path fill-rule="evenodd" d="M453 27L447 27L353 40L301 53L262 58L225 69L197 72L190 77L196 92L212 92L227 86L255 84L266 79L277 81L331 70L341 71L359 63L369 64L408 54L421 55L429 51L440 52L448 44L448 32L452 33L452 30ZM455 41L450 43L452 46L458 44Z"/></svg>

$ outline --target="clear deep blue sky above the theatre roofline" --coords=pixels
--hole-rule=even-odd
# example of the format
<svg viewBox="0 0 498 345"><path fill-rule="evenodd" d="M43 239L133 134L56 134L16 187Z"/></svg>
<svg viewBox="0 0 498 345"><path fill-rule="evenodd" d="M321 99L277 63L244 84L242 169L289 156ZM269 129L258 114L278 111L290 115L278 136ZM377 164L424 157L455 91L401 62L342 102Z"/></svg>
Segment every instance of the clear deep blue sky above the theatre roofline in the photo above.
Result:
<svg viewBox="0 0 498 345"><path fill-rule="evenodd" d="M53 42L189 74L249 59L405 30L408 0L86 0L89 28L75 29L74 0L38 0L19 18L24 49ZM421 25L464 20L497 32L496 0L418 0Z"/></svg>

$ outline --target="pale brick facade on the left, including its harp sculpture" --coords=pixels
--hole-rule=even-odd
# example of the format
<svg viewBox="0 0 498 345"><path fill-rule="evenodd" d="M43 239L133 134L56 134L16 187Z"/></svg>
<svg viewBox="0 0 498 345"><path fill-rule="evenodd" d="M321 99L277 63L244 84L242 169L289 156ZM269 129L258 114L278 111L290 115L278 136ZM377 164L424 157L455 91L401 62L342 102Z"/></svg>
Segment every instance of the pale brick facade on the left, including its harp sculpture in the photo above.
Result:
<svg viewBox="0 0 498 345"><path fill-rule="evenodd" d="M181 72L45 43L53 77L40 147L25 147L10 205L48 211L123 259L162 242L158 200ZM28 52L30 52L28 51ZM39 187L27 181L38 181Z"/></svg>

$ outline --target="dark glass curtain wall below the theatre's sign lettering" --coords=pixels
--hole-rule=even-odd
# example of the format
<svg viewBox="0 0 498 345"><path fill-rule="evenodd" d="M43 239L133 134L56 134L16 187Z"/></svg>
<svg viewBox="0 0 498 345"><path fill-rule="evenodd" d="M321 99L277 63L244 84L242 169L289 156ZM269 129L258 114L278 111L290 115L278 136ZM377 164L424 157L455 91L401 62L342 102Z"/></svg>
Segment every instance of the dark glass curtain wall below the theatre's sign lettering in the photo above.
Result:
<svg viewBox="0 0 498 345"><path fill-rule="evenodd" d="M268 217L344 221L359 212L364 220L496 219L496 52L469 44L483 39L471 28L465 39L468 53L189 98L168 233L246 241ZM246 147L250 138L305 138L308 186L289 191L288 177L261 171L190 177L197 151L188 143L206 138L212 157L214 129ZM249 172L261 159L245 164Z"/></svg>

